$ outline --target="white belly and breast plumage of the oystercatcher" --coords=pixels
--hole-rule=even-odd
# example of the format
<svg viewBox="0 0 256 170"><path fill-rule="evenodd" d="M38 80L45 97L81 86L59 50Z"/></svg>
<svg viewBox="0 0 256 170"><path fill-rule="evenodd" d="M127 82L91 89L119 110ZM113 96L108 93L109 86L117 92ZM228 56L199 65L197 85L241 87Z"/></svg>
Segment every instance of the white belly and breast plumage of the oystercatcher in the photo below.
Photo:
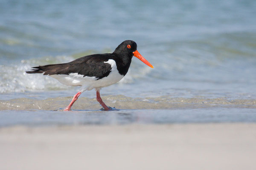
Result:
<svg viewBox="0 0 256 170"><path fill-rule="evenodd" d="M107 77L98 79L96 77L87 77L78 73L66 74L55 74L51 77L57 79L64 85L73 85L73 86L84 86L84 90L92 90L93 88L103 88L109 85L113 85L116 82L119 82L124 76L119 74L116 62L113 59L109 59L107 62L111 65L111 72Z"/></svg>

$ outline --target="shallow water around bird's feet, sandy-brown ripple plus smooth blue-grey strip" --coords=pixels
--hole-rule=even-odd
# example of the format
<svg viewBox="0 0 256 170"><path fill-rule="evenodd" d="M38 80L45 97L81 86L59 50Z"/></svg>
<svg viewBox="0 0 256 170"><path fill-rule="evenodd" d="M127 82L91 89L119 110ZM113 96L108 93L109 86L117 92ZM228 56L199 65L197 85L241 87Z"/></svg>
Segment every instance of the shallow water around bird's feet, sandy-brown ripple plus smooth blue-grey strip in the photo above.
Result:
<svg viewBox="0 0 256 170"><path fill-rule="evenodd" d="M96 99L81 97L73 105L72 111L62 111L71 99L20 98L0 101L0 126L256 122L255 99L104 96L106 104L116 110L101 111Z"/></svg>

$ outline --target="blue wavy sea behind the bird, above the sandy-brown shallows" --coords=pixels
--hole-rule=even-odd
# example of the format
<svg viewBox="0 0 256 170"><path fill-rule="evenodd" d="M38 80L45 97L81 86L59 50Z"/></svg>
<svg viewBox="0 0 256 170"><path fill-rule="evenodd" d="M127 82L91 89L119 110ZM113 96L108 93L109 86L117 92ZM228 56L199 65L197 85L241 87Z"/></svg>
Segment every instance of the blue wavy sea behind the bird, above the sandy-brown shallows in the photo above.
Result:
<svg viewBox="0 0 256 170"><path fill-rule="evenodd" d="M133 58L103 96L255 100L254 16L255 0L1 0L0 100L73 96L79 88L25 71L113 52L124 40L154 68Z"/></svg>

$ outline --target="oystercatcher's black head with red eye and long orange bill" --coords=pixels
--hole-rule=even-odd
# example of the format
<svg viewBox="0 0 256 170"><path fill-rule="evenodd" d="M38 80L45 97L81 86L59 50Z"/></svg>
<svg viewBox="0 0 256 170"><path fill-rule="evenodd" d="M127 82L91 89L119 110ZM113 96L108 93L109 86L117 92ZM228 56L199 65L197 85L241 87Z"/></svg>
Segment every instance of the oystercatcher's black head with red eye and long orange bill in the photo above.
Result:
<svg viewBox="0 0 256 170"><path fill-rule="evenodd" d="M137 51L137 44L136 42L132 40L125 40L123 41L118 47L115 49L113 52L114 54L117 54L120 57L126 57L127 59L129 58L130 63L131 63L131 58L133 56L137 57L140 59L142 62L144 62L146 65L149 67L153 68L153 66L144 58L140 53Z"/></svg>

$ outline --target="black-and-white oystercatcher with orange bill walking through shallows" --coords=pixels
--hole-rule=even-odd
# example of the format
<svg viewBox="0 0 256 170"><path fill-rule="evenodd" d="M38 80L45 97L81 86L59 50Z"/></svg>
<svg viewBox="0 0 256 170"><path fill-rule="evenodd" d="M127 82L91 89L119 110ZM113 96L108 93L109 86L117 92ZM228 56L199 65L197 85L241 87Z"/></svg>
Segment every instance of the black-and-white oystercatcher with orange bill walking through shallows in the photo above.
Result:
<svg viewBox="0 0 256 170"><path fill-rule="evenodd" d="M51 64L33 67L28 74L42 73L49 75L64 85L82 86L81 90L73 97L64 111L70 111L74 102L84 91L96 90L96 99L105 111L111 107L102 101L99 91L101 88L119 82L131 64L131 58L135 56L149 67L153 66L137 51L137 44L132 40L125 40L115 49L113 53L92 54L75 59L72 62L62 64Z"/></svg>

